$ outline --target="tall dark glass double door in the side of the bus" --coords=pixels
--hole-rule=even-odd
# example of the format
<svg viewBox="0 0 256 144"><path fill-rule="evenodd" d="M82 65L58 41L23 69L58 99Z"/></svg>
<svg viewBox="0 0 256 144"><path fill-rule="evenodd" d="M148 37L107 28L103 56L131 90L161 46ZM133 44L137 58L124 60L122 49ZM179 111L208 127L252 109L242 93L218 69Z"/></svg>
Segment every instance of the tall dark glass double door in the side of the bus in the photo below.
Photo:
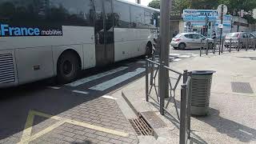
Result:
<svg viewBox="0 0 256 144"><path fill-rule="evenodd" d="M94 0L96 65L114 62L114 27L111 0Z"/></svg>

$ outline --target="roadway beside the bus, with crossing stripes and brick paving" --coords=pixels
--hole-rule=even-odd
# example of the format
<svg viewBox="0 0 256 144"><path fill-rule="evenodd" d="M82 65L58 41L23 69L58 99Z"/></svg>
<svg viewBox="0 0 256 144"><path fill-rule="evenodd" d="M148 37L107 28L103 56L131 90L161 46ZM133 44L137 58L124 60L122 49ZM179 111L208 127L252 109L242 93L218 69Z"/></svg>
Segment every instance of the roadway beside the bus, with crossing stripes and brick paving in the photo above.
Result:
<svg viewBox="0 0 256 144"><path fill-rule="evenodd" d="M198 54L197 50L170 51L171 62ZM136 143L134 130L109 94L144 72L144 58L133 58L85 70L76 82L66 85L44 80L0 90L0 143ZM54 122L62 118L67 118L63 121L67 124L56 126Z"/></svg>

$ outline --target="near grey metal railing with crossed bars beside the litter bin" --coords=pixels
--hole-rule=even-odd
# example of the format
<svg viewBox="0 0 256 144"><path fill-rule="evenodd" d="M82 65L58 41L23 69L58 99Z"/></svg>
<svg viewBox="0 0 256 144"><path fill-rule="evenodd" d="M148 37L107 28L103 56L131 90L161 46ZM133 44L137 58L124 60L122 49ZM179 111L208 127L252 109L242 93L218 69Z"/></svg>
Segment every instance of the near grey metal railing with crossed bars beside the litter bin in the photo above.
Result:
<svg viewBox="0 0 256 144"><path fill-rule="evenodd" d="M163 95L159 95L159 70L168 70L172 75L168 78L170 97L166 99ZM149 76L150 74L150 76ZM178 105L175 100L176 89L178 83L183 77L183 84L181 90L181 104L180 111L178 111ZM172 81L171 81L172 80ZM174 108L177 114L177 121L180 126L180 143L185 144L187 138L190 138L190 94L191 94L191 73L184 70L183 74L177 70L173 70L164 65L164 62L155 62L154 56L149 59L146 57L146 102L149 102L149 98L152 99L158 106L161 114L171 114L168 110L171 100L174 102ZM155 97L153 96L155 94ZM166 102L166 104L165 104ZM162 111L163 110L163 113ZM166 112L166 113L165 113Z"/></svg>

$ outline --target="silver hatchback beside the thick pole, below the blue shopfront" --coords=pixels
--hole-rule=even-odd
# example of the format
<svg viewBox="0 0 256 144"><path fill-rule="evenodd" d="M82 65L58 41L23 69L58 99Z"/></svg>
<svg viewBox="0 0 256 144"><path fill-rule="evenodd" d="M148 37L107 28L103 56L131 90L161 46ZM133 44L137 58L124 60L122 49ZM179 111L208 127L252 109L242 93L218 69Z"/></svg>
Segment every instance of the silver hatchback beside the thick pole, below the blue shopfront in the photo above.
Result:
<svg viewBox="0 0 256 144"><path fill-rule="evenodd" d="M202 45L206 45L207 40L209 42L209 46L212 48L214 46L214 39L212 38L206 38L202 34L196 33L180 33L172 38L170 46L173 46L174 49L180 50L185 50L186 48L198 49Z"/></svg>

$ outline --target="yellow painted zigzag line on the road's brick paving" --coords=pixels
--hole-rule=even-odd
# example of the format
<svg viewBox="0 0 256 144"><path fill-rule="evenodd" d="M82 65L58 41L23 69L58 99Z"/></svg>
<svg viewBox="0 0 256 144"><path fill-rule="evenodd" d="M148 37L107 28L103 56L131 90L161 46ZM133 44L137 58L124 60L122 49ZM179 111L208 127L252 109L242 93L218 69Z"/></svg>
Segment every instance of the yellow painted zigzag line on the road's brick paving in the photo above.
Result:
<svg viewBox="0 0 256 144"><path fill-rule="evenodd" d="M47 127L44 130L41 130L40 132L38 132L37 134L31 135L32 132L32 127L33 127L33 122L34 122L34 116L41 116L41 117L45 117L45 118L51 118L54 120L58 120L58 122L54 123L54 125ZM28 144L31 141L34 141L36 138L41 137L44 134L49 133L51 130L54 130L55 128L57 128L58 126L62 126L64 123L70 123L72 125L76 125L76 126L82 126L82 127L86 127L92 130L98 130L98 131L102 131L108 134L114 134L114 135L118 135L121 137L128 137L129 134L122 132L122 131L118 131L118 130L110 130L101 126L94 126L91 124L88 124L86 122L78 122L75 120L71 120L68 118L61 118L58 116L54 116L54 115L50 115L50 114L45 114L42 112L38 112L35 110L30 110L28 117L26 118L26 124L24 127L24 130L22 132L22 138L21 141L18 142L18 144Z"/></svg>

